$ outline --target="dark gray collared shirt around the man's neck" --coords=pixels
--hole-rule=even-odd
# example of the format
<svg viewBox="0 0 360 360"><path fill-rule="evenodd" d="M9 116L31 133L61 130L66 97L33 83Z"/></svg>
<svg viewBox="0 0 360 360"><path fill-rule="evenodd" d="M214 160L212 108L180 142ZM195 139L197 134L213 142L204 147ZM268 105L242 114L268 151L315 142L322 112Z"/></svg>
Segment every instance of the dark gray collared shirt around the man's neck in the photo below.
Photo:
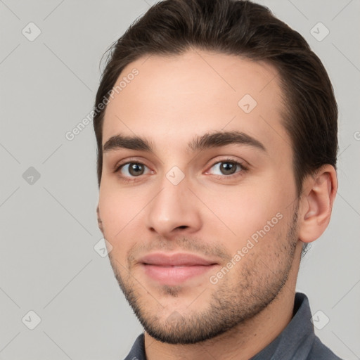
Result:
<svg viewBox="0 0 360 360"><path fill-rule="evenodd" d="M342 360L314 333L307 295L295 294L293 319L288 326L249 360ZM146 360L144 333L141 333L124 360Z"/></svg>

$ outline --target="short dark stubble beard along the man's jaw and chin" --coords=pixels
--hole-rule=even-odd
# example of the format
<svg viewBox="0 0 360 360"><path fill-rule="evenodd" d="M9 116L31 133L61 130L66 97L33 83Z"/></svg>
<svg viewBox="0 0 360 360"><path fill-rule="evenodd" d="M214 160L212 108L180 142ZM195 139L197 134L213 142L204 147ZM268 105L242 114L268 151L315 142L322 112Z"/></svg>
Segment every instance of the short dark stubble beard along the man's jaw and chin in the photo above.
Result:
<svg viewBox="0 0 360 360"><path fill-rule="evenodd" d="M172 309L167 319L162 319L159 316L162 305L160 300L156 300L157 294L150 291L146 293L144 287L130 274L129 269L117 266L120 264L113 258L111 252L110 264L127 302L146 333L152 338L169 344L188 345L215 338L235 326L238 326L241 333L241 324L245 325L273 302L288 280L297 245L297 214L296 208L293 219L288 224L286 241L279 241L282 237L281 233L276 239L276 242L281 244L274 254L274 261L278 262L276 271L271 271L261 257L246 255L248 261L244 262L244 259L240 261L240 274L237 271L238 281L231 283L231 275L226 274L216 287L209 282L210 301L203 310L191 311L190 306L186 314L181 314L181 311ZM118 269L122 270L122 274ZM146 284L143 285L146 288ZM163 285L161 289L162 299L164 295L172 298L181 296L181 285ZM147 298L141 296L139 290L142 294L146 293ZM209 290L205 290L204 294L208 294ZM198 295L194 295L194 298L196 296ZM153 302L153 308L149 307L150 302Z"/></svg>

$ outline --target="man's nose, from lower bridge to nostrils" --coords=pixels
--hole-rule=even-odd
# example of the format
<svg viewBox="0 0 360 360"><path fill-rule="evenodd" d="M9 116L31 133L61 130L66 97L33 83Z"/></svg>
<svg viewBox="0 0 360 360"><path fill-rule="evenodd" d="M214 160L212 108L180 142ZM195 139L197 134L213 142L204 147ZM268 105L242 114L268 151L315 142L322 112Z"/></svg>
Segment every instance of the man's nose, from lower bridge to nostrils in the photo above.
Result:
<svg viewBox="0 0 360 360"><path fill-rule="evenodd" d="M164 177L155 197L146 207L147 228L165 238L179 236L180 231L195 233L202 226L200 205L186 178L174 185Z"/></svg>

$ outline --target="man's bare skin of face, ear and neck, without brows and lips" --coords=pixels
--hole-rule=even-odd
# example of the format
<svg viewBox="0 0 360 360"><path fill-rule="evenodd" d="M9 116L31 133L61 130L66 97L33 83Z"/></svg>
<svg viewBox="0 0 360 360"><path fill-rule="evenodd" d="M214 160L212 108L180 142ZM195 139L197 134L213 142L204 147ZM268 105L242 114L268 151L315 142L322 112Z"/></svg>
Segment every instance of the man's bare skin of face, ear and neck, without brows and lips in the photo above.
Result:
<svg viewBox="0 0 360 360"><path fill-rule="evenodd" d="M155 153L104 153L97 210L113 247L115 277L145 329L147 359L249 359L293 316L302 245L328 226L338 188L335 169L324 165L307 176L297 197L272 65L190 49L136 60L120 78L133 68L139 75L106 108L103 144L115 134L145 136ZM238 106L245 94L257 101L248 114ZM266 152L233 144L186 150L195 134L231 130L261 141ZM237 168L238 176L225 178L220 165L228 157L248 171ZM127 161L146 165L143 173L136 176L127 166L114 172ZM174 166L184 174L177 185L166 177ZM281 220L211 283L210 276L278 213ZM195 253L218 262L217 269L181 285L162 285L139 264L158 250Z"/></svg>

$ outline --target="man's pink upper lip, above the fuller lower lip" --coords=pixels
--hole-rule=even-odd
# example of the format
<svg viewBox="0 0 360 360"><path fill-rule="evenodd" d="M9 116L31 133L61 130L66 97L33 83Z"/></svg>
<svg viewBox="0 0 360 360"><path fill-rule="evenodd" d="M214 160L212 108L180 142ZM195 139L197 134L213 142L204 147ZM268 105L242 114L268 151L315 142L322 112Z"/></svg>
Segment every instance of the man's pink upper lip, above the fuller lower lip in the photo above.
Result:
<svg viewBox="0 0 360 360"><path fill-rule="evenodd" d="M208 266L217 264L217 262L212 261L211 259L205 259L199 257L198 255L187 254L187 253L177 253L173 255L165 255L164 253L154 253L146 255L139 259L139 262L146 265L156 265L156 266Z"/></svg>

